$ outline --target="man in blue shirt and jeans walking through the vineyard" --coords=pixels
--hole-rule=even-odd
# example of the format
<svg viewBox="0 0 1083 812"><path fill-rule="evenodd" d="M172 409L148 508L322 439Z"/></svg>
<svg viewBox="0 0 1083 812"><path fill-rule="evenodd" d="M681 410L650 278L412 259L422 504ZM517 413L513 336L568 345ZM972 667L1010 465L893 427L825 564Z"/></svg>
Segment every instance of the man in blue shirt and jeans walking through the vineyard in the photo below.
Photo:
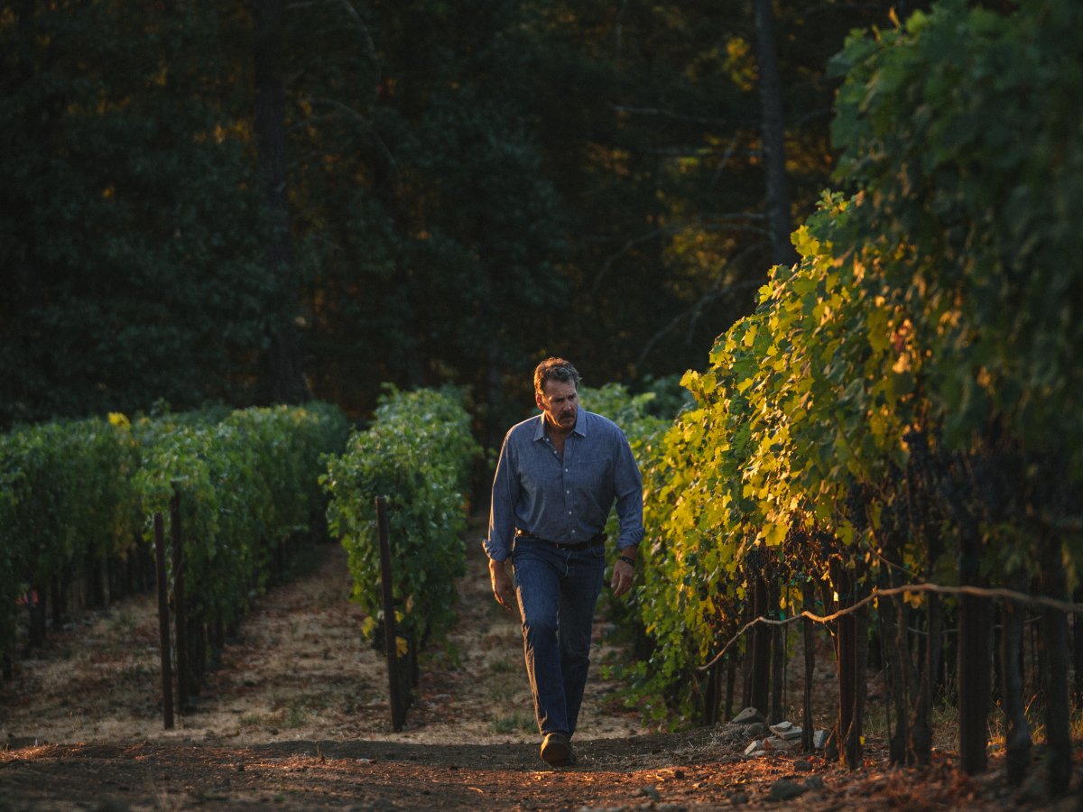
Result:
<svg viewBox="0 0 1083 812"><path fill-rule="evenodd" d="M575 763L571 739L605 571L602 528L614 501L614 597L631 588L643 538L643 486L631 448L615 423L579 408L578 384L563 358L534 370L542 414L504 438L484 542L493 594L507 610L519 604L542 758L554 767Z"/></svg>

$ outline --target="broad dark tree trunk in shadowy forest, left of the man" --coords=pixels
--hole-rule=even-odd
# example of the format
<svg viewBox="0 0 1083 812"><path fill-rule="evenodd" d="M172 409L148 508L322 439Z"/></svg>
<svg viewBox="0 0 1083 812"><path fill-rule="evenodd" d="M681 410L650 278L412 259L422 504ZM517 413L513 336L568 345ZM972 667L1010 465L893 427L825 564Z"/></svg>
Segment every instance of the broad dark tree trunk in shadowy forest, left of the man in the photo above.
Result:
<svg viewBox="0 0 1083 812"><path fill-rule="evenodd" d="M256 141L260 175L271 219L266 262L279 290L278 324L272 327L265 355L268 394L274 403L301 403L308 387L301 372L300 350L292 312L297 307L289 236L286 176L286 89L283 81L283 12L285 0L253 0L256 78Z"/></svg>

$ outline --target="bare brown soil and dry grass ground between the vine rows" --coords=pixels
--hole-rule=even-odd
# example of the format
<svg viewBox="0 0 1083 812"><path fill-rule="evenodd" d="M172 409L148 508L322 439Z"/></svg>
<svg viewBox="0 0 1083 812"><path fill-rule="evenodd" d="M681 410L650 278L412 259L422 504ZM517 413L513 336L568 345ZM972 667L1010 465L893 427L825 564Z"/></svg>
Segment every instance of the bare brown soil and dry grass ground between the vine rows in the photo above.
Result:
<svg viewBox="0 0 1083 812"><path fill-rule="evenodd" d="M1077 808L1078 798L1044 797L1040 762L1013 790L995 756L978 777L958 773L950 750L924 770L889 769L871 736L865 769L849 772L797 750L746 759L747 736L734 725L652 730L606 678L603 666L629 653L601 621L578 763L549 768L538 758L518 617L492 600L477 543L459 592L457 629L422 660L400 732L383 655L362 640L338 546L314 548L304 572L255 600L171 731L153 599L88 613L0 683L0 810ZM832 668L821 660L823 715ZM799 682L790 695L800 696ZM787 784L801 794L775 800Z"/></svg>

